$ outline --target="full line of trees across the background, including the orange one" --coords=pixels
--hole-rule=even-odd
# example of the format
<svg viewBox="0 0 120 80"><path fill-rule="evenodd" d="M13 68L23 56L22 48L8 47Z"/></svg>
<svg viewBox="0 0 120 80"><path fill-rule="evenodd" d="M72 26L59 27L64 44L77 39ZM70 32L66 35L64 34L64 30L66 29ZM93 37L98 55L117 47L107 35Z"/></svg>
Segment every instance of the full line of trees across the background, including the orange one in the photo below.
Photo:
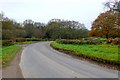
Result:
<svg viewBox="0 0 120 80"><path fill-rule="evenodd" d="M90 37L120 38L120 16L118 11L108 10L101 13L91 25L89 31L84 24L78 21L51 19L47 24L35 22L31 19L18 23L15 20L4 17L0 20L2 25L3 40L16 38L41 38L47 40L56 39L80 39Z"/></svg>

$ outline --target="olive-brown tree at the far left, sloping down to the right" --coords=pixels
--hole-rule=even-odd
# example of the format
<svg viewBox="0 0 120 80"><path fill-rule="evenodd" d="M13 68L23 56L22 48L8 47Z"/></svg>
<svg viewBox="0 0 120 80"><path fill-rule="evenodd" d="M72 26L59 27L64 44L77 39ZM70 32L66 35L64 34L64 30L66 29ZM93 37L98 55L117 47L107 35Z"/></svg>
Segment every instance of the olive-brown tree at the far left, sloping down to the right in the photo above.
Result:
<svg viewBox="0 0 120 80"><path fill-rule="evenodd" d="M1 20L1 23L3 40L25 37L26 32L20 23L17 23L16 21L4 16Z"/></svg>

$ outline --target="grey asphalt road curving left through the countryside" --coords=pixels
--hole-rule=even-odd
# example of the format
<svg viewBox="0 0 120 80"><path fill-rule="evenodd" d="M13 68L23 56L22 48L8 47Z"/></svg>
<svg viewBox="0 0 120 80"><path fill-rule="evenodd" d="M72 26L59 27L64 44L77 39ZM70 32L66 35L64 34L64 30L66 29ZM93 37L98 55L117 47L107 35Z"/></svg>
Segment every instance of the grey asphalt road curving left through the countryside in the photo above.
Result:
<svg viewBox="0 0 120 80"><path fill-rule="evenodd" d="M25 47L20 68L24 78L118 78L118 71L58 52L50 47L50 42Z"/></svg>

